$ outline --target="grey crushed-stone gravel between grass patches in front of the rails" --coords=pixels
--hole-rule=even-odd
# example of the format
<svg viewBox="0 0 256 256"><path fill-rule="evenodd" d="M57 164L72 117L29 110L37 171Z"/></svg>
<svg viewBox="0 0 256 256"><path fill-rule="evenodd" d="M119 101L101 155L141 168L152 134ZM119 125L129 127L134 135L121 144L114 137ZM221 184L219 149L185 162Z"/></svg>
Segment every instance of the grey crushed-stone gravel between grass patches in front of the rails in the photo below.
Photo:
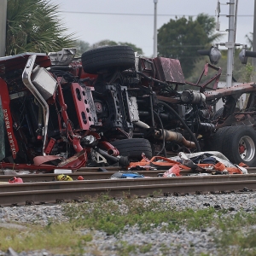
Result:
<svg viewBox="0 0 256 256"><path fill-rule="evenodd" d="M143 200L148 201L153 199L148 198ZM169 196L156 200L161 201L162 207L171 204L177 211L182 211L186 208L193 210L206 209L211 206L229 210L226 214L235 214L241 210L251 212L256 207L255 193ZM2 207L0 208L0 228L15 228L19 232L19 229L23 227L22 224L46 225L53 219L58 222L67 221L61 209L61 205ZM11 224L16 224L17 226L11 226ZM212 234L216 234L218 230L215 230L214 227L207 227L203 230L186 230L186 228L181 228L176 232L163 232L161 228L164 225L166 224L162 223L158 227L152 227L150 231L145 233L142 233L137 225L133 227L126 226L125 230L116 237L108 236L108 234L100 230L81 230L84 235L90 233L93 236L93 240L88 242L86 247L84 247L86 253L83 255L120 255L118 252L124 246L124 242L125 245L136 247L145 247L150 244L150 249L147 253L137 252L129 255L199 255L200 253L218 255L218 248L214 244L212 237ZM0 255L15 256L2 252L1 250ZM22 252L16 255L51 256L57 254L51 254L43 250Z"/></svg>

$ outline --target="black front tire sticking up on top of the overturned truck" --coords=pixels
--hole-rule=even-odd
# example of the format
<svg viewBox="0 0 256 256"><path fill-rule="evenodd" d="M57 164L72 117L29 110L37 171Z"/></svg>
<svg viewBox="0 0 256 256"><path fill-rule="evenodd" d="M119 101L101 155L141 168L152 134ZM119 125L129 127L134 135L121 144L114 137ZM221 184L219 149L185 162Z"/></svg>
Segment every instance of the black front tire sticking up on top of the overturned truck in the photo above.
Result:
<svg viewBox="0 0 256 256"><path fill-rule="evenodd" d="M106 46L85 51L81 57L85 73L112 72L116 67L124 71L135 67L135 54L130 46Z"/></svg>

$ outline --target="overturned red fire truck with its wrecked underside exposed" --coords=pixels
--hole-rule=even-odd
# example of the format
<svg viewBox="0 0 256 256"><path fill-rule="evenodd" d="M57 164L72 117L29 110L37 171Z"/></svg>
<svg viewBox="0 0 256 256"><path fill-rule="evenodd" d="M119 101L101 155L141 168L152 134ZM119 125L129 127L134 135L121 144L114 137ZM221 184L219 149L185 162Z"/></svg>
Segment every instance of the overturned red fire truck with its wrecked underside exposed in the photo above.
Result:
<svg viewBox="0 0 256 256"><path fill-rule="evenodd" d="M255 84L218 89L221 69L210 64L201 77L209 67L215 75L191 84L178 60L143 58L128 46L74 55L62 49L0 58L2 168L128 166L202 150L256 166ZM239 109L244 93L247 106Z"/></svg>

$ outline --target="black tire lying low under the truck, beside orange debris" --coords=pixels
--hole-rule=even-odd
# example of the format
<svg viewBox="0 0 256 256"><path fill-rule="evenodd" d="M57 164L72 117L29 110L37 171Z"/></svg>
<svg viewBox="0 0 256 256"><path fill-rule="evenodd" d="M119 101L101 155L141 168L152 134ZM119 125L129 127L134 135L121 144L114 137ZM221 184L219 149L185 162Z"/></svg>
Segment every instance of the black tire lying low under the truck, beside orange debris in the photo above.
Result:
<svg viewBox="0 0 256 256"><path fill-rule="evenodd" d="M111 144L119 149L122 156L129 156L130 160L142 160L142 154L150 160L152 158L152 148L147 139L131 138L111 142Z"/></svg>

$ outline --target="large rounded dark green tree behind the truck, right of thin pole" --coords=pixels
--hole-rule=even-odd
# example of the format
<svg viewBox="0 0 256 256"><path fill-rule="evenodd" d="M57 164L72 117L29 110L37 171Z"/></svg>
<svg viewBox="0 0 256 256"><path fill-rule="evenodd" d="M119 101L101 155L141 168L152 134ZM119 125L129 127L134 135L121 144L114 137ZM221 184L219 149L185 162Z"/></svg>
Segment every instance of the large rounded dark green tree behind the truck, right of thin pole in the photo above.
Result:
<svg viewBox="0 0 256 256"><path fill-rule="evenodd" d="M200 14L195 20L182 17L170 20L158 30L159 55L178 59L181 62L185 77L189 77L201 56L198 49L209 49L210 44L222 35L213 33L215 20Z"/></svg>

